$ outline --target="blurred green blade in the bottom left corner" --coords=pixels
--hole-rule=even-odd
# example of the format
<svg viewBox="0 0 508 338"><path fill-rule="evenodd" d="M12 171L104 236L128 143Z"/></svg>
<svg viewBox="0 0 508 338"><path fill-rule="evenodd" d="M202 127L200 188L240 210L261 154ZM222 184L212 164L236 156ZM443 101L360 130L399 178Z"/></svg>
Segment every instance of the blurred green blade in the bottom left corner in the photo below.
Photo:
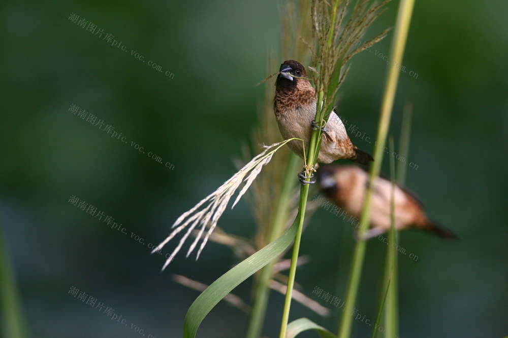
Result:
<svg viewBox="0 0 508 338"><path fill-rule="evenodd" d="M25 337L19 292L9 259L9 250L4 240L2 224L0 224L0 304L2 304L2 336Z"/></svg>

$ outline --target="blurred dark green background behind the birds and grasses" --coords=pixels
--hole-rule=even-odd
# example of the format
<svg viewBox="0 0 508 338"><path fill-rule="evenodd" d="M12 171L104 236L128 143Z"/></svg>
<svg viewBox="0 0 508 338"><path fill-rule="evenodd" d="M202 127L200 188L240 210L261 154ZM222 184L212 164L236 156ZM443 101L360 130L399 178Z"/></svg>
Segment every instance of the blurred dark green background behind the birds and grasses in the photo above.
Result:
<svg viewBox="0 0 508 338"><path fill-rule="evenodd" d="M388 5L370 36L393 26L397 4ZM0 217L29 335L181 336L199 292L173 282L172 273L209 284L237 260L209 243L198 261L185 259L182 250L161 273L165 258L150 255L147 245L162 241L182 212L236 172L232 160L256 126L263 86L273 85L254 86L267 76L267 50L278 49L278 4L7 0L0 8ZM84 27L69 19L73 13L86 20ZM418 168L407 169L407 185L461 240L401 234L407 253L419 256L415 263L399 255L401 337L508 334L506 13L501 0L416 3L392 132L397 139L404 102L411 99L407 163ZM87 30L90 22L102 36ZM388 54L391 36L353 58L339 91L339 115L371 139L389 66L374 51ZM70 112L72 104L104 127ZM107 125L114 128L110 134ZM351 138L372 151L360 136ZM72 205L71 196L104 218ZM106 216L125 234L111 229ZM246 237L256 231L244 201L219 226ZM297 282L329 308L312 290L343 298L352 228L320 209L303 234L300 252L311 261L299 268ZM356 307L371 319L384 254L385 244L369 243ZM69 294L73 286L129 325ZM234 293L248 303L250 287L249 279ZM264 335L278 335L282 303L272 292ZM303 316L336 331L336 315L320 318L294 303L290 319ZM219 303L198 336L239 337L246 325L244 313ZM370 332L354 321L353 336Z"/></svg>

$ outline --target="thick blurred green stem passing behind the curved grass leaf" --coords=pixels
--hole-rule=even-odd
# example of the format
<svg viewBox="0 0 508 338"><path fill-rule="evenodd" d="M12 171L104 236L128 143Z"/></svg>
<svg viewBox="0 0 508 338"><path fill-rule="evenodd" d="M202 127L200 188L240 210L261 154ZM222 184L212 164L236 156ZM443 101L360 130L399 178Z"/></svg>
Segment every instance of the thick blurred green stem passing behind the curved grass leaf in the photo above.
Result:
<svg viewBox="0 0 508 338"><path fill-rule="evenodd" d="M289 162L284 173L280 195L275 205L275 214L270 224L270 233L265 244L273 242L284 231L284 227L288 222L290 212L290 202L293 189L295 187L295 175L300 165L300 158L295 154L289 154ZM273 277L273 266L275 261L271 261L264 267L259 275L259 279L255 286L255 299L252 303L249 324L247 327L246 338L258 338L263 328L263 322L268 304L268 296L270 295L269 283Z"/></svg>

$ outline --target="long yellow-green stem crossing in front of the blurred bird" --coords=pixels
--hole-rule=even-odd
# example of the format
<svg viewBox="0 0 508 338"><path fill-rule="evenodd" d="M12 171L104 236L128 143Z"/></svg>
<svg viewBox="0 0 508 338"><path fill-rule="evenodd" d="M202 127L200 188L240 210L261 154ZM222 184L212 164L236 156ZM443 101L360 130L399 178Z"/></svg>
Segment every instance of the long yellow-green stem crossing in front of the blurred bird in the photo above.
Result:
<svg viewBox="0 0 508 338"><path fill-rule="evenodd" d="M397 24L394 32L394 39L390 49L390 55L394 65L401 64L402 55L407 39L407 32L409 30L409 22L414 7L414 0L401 0L399 4L399 11L397 14ZM390 117L392 114L393 102L395 99L395 92L399 77L399 70L392 65L388 70L387 81L385 84L385 93L383 96L383 103L381 106L381 114L379 116L379 126L376 138L376 147L374 148L374 162L370 167L370 182L372 182L378 175L383 161L384 147L386 144L386 136L390 126ZM370 221L370 204L372 197L372 184L369 184L365 196L364 206L360 218L360 237L365 234L368 229ZM338 336L340 338L347 338L351 333L351 326L353 317L351 313L356 304L358 288L360 284L360 276L363 267L363 260L365 257L365 240L359 240L355 245L353 253L353 262L351 267L351 274L347 284L346 302L344 314L340 321L340 329Z"/></svg>

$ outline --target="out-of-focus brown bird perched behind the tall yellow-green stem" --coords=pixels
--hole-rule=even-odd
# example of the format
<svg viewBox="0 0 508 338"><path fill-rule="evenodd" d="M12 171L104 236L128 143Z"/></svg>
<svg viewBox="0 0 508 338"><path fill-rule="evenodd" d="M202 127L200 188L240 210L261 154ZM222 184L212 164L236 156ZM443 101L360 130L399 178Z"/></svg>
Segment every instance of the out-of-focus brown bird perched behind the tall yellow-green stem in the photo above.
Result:
<svg viewBox="0 0 508 338"><path fill-rule="evenodd" d="M348 214L360 218L367 191L369 173L357 166L324 166L317 172L324 194ZM374 181L370 227L364 238L369 239L390 230L392 182L378 177ZM444 228L425 214L418 198L405 187L395 184L394 226L397 230L421 229L446 239L458 239L451 230Z"/></svg>

